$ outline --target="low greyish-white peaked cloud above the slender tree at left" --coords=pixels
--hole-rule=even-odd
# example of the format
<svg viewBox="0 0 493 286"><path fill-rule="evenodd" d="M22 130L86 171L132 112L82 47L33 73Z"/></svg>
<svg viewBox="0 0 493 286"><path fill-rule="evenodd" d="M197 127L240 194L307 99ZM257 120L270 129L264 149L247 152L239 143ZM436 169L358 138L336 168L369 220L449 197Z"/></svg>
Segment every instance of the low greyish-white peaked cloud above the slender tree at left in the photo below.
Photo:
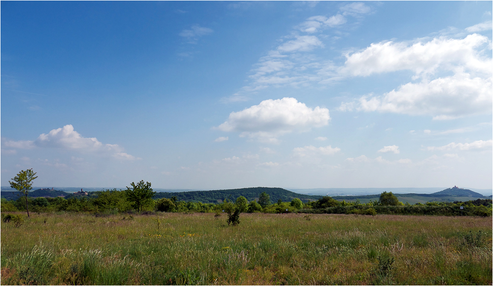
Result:
<svg viewBox="0 0 493 286"><path fill-rule="evenodd" d="M17 149L58 148L76 150L79 152L102 152L111 154L115 158L125 160L141 159L123 152L117 144L104 144L96 138L82 137L73 126L68 124L62 128L53 129L48 134L41 134L35 141L6 141L2 140L2 147Z"/></svg>

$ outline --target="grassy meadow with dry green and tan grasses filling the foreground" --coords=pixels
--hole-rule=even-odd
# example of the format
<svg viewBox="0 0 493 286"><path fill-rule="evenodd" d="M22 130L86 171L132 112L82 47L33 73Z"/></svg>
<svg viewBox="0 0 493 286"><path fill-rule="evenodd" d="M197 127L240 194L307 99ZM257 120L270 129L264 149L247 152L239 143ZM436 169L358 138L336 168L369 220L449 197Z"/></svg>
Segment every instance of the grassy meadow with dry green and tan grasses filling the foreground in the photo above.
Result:
<svg viewBox="0 0 493 286"><path fill-rule="evenodd" d="M492 217L32 214L2 285L491 285Z"/></svg>

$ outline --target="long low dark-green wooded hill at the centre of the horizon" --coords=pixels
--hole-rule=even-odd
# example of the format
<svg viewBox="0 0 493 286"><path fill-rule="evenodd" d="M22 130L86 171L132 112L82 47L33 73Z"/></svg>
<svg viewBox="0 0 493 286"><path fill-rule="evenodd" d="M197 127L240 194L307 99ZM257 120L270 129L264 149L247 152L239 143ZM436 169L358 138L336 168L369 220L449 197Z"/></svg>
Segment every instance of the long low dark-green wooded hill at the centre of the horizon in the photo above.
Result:
<svg viewBox="0 0 493 286"><path fill-rule="evenodd" d="M191 191L191 192L159 192L156 193L154 199L168 198L176 196L178 201L201 202L201 203L220 203L224 199L235 201L236 198L244 196L248 201L258 200L262 192L266 192L272 203L277 203L279 199L283 202L290 202L294 198L300 199L302 202L316 201L322 196L297 194L282 188L241 188L230 190L212 190L212 191Z"/></svg>

